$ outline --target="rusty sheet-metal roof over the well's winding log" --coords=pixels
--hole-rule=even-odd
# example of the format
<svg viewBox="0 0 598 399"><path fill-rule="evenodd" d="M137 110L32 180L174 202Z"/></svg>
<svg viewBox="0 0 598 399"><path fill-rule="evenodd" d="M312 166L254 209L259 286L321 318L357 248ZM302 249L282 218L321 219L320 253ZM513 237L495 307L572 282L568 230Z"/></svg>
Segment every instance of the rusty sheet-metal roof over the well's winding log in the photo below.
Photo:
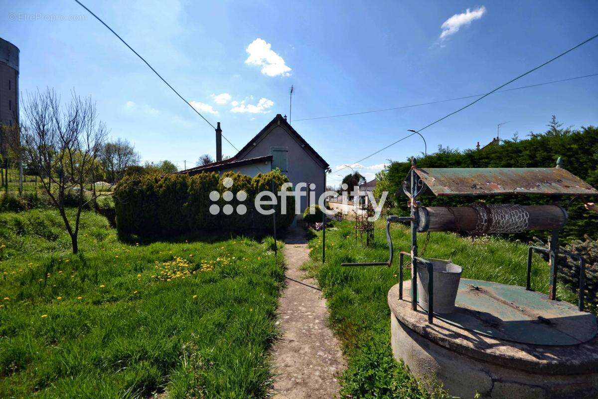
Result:
<svg viewBox="0 0 598 399"><path fill-rule="evenodd" d="M598 195L596 188L562 167L429 167L415 171L426 195ZM408 176L406 183L409 187Z"/></svg>

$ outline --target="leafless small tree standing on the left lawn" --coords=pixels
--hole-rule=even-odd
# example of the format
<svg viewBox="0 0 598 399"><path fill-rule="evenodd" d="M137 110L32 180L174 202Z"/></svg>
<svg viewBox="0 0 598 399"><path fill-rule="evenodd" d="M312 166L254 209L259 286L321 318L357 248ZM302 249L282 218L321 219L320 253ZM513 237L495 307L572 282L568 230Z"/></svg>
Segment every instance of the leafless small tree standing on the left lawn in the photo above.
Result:
<svg viewBox="0 0 598 399"><path fill-rule="evenodd" d="M41 179L42 187L60 212L71 236L73 253L77 254L81 211L96 197L91 194L91 199L86 200L84 184L97 167L97 156L108 134L106 126L97 120L95 103L74 92L71 101L63 106L54 90L38 91L27 96L22 109L23 158L39 176L47 176ZM74 221L66 214L68 192L77 203Z"/></svg>

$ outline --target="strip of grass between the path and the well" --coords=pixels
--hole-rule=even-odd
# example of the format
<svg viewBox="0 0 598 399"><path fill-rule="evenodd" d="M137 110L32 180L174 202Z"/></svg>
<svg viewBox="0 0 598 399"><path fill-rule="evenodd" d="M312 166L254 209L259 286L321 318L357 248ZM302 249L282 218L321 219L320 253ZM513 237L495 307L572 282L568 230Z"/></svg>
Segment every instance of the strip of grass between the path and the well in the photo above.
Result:
<svg viewBox="0 0 598 399"><path fill-rule="evenodd" d="M396 362L390 348L390 310L386 295L398 282L398 252L410 251L407 227L392 224L395 247L393 267L341 267L343 262L388 260L385 222L376 223L376 244L365 248L356 242L353 222L334 223L326 234L326 263L322 264L322 235L317 233L309 246L312 261L307 265L328 299L330 321L340 338L349 367L341 379L341 394L350 398L444 397L440 390L429 395ZM425 234L418 234L420 256ZM450 233L431 233L425 257L452 259L463 267L463 278L525 286L527 246L494 237L472 241ZM548 293L548 265L534 257L532 287ZM410 278L405 270L405 279ZM576 296L557 287L560 299L576 303Z"/></svg>

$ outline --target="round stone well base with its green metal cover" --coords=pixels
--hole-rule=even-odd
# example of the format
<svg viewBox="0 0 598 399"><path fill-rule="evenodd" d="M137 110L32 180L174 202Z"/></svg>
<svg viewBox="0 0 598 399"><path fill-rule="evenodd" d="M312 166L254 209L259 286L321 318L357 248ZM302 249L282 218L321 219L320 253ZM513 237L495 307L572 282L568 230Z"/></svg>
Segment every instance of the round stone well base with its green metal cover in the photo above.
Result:
<svg viewBox="0 0 598 399"><path fill-rule="evenodd" d="M392 350L425 383L461 398L597 398L596 318L522 287L462 279L457 311L411 309L390 288Z"/></svg>

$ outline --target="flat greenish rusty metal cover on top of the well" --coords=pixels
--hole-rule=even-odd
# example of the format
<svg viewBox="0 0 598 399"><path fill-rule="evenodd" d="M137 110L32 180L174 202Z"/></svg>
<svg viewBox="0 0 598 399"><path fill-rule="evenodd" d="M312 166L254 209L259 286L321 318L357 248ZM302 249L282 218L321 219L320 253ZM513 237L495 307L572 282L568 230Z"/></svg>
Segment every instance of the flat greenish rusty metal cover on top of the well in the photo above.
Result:
<svg viewBox="0 0 598 399"><path fill-rule="evenodd" d="M455 304L455 312L436 317L512 342L577 345L597 333L593 314L517 285L461 279Z"/></svg>

